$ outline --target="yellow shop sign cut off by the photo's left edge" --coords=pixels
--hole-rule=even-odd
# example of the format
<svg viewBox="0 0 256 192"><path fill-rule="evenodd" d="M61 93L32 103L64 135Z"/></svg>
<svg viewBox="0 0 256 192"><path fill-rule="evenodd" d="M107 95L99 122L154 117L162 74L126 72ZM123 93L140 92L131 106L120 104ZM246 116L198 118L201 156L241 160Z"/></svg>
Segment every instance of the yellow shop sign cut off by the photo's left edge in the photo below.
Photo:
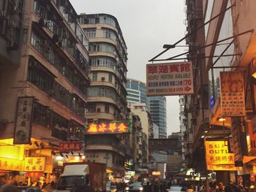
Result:
<svg viewBox="0 0 256 192"><path fill-rule="evenodd" d="M0 158L0 169L9 171L22 171L22 160L12 158Z"/></svg>

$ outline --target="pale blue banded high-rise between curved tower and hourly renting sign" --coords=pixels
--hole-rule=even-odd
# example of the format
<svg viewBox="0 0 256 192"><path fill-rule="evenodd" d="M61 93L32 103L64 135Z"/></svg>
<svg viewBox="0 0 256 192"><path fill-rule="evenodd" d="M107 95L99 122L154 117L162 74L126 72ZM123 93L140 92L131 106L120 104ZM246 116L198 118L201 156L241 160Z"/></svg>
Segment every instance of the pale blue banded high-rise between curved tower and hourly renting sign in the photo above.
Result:
<svg viewBox="0 0 256 192"><path fill-rule="evenodd" d="M149 100L146 96L146 83L139 80L127 79L127 102L128 103L144 103L148 107Z"/></svg>

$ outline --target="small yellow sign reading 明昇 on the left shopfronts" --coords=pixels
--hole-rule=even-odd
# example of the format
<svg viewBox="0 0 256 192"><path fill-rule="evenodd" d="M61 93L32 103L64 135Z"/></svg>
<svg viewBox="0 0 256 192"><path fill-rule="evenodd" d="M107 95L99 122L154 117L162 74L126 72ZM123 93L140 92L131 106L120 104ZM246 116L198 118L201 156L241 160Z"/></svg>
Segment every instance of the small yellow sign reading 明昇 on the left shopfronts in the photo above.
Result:
<svg viewBox="0 0 256 192"><path fill-rule="evenodd" d="M27 157L24 160L24 172L45 171L45 157Z"/></svg>

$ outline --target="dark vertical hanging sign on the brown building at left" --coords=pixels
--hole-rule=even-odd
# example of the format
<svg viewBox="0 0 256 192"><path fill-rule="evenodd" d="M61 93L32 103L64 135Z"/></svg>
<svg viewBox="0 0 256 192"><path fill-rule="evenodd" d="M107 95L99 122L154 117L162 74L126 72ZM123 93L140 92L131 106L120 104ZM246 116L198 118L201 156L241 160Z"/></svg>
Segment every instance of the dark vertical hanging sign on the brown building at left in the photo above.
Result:
<svg viewBox="0 0 256 192"><path fill-rule="evenodd" d="M34 97L18 97L15 120L14 144L31 143L31 116Z"/></svg>

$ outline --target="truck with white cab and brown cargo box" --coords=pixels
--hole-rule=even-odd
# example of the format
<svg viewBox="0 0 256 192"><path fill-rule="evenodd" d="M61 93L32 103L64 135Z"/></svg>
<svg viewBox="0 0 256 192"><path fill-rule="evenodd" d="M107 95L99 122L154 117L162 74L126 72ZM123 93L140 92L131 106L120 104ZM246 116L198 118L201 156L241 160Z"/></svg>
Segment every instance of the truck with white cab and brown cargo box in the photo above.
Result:
<svg viewBox="0 0 256 192"><path fill-rule="evenodd" d="M71 191L74 185L90 185L94 191L105 191L106 165L92 162L64 164L56 192Z"/></svg>

